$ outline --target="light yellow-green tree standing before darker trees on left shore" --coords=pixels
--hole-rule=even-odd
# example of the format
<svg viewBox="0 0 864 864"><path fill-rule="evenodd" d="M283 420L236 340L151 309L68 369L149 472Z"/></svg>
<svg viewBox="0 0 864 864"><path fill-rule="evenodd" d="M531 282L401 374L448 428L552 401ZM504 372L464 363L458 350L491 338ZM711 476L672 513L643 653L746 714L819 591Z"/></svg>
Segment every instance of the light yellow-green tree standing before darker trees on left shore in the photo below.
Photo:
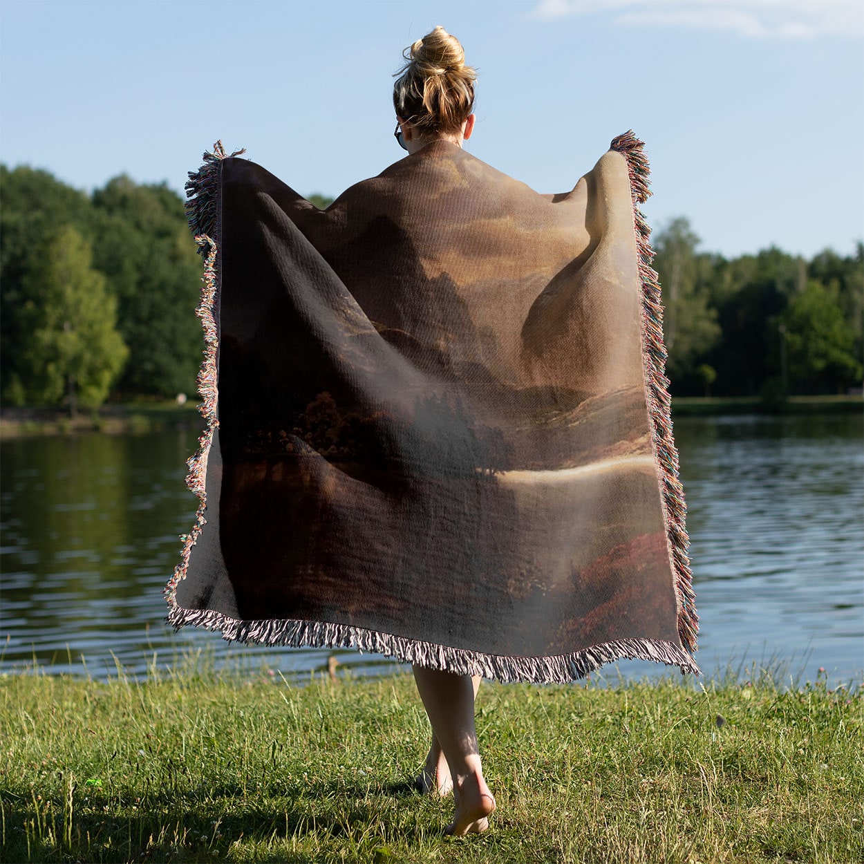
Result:
<svg viewBox="0 0 864 864"><path fill-rule="evenodd" d="M98 408L128 350L115 329L117 302L92 269L90 245L72 226L41 245L23 280L26 325L12 384L16 401Z"/></svg>

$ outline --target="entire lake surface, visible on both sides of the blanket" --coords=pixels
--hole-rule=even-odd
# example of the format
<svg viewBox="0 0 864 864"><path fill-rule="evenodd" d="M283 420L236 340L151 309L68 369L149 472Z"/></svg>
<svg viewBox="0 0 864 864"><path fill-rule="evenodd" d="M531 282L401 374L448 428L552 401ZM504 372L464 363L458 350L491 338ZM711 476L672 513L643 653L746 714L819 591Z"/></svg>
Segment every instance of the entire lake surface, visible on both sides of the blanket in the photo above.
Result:
<svg viewBox="0 0 864 864"><path fill-rule="evenodd" d="M710 674L750 662L861 679L864 449L861 415L683 417L676 422ZM3 443L4 671L143 674L204 647L218 664L284 673L326 668L333 651L226 645L162 623L162 588L194 515L182 483L192 430ZM395 668L337 651L356 674ZM116 658L116 660L115 660ZM654 664L622 663L626 676Z"/></svg>

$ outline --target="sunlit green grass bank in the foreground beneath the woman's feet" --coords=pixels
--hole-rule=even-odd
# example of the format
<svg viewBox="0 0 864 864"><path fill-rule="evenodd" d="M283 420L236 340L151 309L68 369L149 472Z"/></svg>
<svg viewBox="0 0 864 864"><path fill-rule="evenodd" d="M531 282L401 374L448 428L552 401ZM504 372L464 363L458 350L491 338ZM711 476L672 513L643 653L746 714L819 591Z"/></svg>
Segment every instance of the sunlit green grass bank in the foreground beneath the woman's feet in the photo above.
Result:
<svg viewBox="0 0 864 864"><path fill-rule="evenodd" d="M409 677L0 679L3 861L861 861L862 696L485 683L486 835L408 781Z"/></svg>

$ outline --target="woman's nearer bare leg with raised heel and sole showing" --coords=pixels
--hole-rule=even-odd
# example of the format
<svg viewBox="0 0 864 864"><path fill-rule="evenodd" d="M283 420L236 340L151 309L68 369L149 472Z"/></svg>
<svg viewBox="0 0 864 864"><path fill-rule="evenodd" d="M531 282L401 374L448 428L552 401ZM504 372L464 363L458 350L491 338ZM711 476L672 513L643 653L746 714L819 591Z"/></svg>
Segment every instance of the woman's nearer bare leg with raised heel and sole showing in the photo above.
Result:
<svg viewBox="0 0 864 864"><path fill-rule="evenodd" d="M472 678L414 666L414 680L450 768L456 813L447 833L480 834L489 827L495 799L480 764Z"/></svg>

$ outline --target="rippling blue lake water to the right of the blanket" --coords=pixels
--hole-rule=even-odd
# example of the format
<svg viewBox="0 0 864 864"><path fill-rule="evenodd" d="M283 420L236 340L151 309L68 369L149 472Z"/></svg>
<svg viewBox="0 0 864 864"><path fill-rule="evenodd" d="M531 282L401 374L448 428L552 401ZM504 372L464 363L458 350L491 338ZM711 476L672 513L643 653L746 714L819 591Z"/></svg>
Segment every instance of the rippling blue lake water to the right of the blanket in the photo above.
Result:
<svg viewBox="0 0 864 864"><path fill-rule="evenodd" d="M703 651L809 651L811 676L860 674L861 416L688 418L676 430Z"/></svg>

